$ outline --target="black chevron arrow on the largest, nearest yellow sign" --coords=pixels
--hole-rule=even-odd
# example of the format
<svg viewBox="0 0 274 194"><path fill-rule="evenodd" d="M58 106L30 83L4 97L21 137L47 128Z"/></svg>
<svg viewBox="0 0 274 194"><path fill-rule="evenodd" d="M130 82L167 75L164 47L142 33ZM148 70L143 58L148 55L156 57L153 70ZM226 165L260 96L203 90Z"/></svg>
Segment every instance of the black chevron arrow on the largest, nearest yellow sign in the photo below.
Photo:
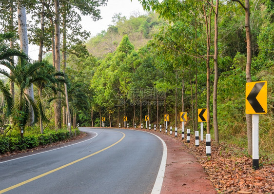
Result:
<svg viewBox="0 0 274 194"><path fill-rule="evenodd" d="M262 87L264 86L264 83L265 82L255 83L254 87L252 88L251 92L246 98L249 101L252 108L254 109L255 113L265 113L263 107L260 105L260 103L256 99Z"/></svg>

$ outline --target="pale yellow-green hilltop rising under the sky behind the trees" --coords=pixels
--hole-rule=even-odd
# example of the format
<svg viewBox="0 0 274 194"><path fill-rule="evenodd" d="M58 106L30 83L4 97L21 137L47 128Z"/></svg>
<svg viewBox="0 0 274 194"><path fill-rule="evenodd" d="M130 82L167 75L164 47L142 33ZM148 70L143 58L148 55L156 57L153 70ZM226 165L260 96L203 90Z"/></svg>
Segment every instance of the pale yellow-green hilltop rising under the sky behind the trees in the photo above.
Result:
<svg viewBox="0 0 274 194"><path fill-rule="evenodd" d="M152 39L163 24L166 24L166 21L159 19L155 13L131 16L129 19L118 14L113 17L113 24L107 31L102 31L89 39L86 47L91 55L102 58L107 53L114 52L123 36L128 35L135 49L138 50Z"/></svg>

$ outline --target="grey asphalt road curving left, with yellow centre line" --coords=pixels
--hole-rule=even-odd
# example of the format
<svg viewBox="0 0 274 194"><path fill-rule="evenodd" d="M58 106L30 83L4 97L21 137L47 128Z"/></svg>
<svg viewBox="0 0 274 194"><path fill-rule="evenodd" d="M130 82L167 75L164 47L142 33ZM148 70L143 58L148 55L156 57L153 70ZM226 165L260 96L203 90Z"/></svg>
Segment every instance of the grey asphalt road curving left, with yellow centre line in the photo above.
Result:
<svg viewBox="0 0 274 194"><path fill-rule="evenodd" d="M150 194L163 155L157 136L125 129L0 163L0 194Z"/></svg>

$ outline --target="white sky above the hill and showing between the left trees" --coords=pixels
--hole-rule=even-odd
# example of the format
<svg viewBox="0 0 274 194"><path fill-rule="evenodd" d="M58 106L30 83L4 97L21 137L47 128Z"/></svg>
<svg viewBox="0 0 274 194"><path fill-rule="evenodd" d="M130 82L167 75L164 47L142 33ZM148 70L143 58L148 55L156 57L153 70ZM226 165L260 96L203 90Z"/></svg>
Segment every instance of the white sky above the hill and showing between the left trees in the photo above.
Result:
<svg viewBox="0 0 274 194"><path fill-rule="evenodd" d="M127 18L136 12L139 12L140 15L145 14L138 0L108 0L107 5L100 7L100 10L102 19L98 21L93 21L90 16L82 16L80 24L84 30L91 33L91 37L96 36L102 30L107 30L108 26L112 24L114 14L121 13L121 16L126 16ZM37 60L38 52L38 46L29 45L30 58Z"/></svg>

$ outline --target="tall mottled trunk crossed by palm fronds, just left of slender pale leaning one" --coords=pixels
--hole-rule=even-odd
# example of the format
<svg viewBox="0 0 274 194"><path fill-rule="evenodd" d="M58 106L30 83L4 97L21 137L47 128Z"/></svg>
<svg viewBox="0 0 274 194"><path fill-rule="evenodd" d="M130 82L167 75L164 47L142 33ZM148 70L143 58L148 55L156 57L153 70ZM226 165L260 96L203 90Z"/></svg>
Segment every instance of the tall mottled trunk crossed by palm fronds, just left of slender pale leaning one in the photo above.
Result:
<svg viewBox="0 0 274 194"><path fill-rule="evenodd" d="M55 69L60 71L60 12L59 0L54 0L55 4ZM57 93L58 99L55 100L54 115L55 115L55 128L61 128L61 101L60 92Z"/></svg>

